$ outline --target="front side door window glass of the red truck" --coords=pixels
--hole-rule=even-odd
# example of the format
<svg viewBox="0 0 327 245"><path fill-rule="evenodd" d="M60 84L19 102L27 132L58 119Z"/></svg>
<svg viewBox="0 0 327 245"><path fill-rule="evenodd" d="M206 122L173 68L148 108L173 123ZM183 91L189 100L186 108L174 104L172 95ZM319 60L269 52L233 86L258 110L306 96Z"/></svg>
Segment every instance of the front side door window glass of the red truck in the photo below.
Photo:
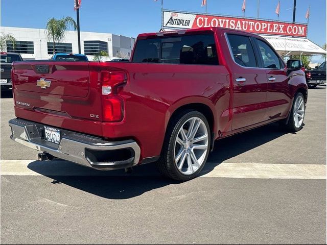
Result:
<svg viewBox="0 0 327 245"><path fill-rule="evenodd" d="M268 46L268 44L259 39L257 40L262 59L264 61L264 67L270 69L284 68L283 62L281 61L281 59L279 59L276 53Z"/></svg>

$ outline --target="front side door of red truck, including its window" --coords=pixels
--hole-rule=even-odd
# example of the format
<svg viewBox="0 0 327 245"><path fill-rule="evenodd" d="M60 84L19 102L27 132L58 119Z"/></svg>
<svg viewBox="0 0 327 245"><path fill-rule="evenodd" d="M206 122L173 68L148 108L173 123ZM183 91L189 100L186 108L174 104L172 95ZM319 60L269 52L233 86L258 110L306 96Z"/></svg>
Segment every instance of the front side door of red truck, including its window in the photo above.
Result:
<svg viewBox="0 0 327 245"><path fill-rule="evenodd" d="M291 102L286 66L268 42L256 39L256 44L260 53L261 67L265 70L268 81L264 120L285 116Z"/></svg>

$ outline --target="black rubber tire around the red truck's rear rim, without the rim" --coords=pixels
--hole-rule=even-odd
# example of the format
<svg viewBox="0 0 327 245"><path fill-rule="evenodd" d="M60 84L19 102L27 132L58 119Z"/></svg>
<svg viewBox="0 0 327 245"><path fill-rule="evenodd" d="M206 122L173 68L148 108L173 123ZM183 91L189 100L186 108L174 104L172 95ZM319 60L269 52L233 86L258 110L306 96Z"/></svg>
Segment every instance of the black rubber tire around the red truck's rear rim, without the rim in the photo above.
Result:
<svg viewBox="0 0 327 245"><path fill-rule="evenodd" d="M195 173L193 173L192 175L184 175L178 170L177 165L175 163L174 147L175 147L175 140L180 127L182 127L182 125L192 117L199 117L200 119L203 120L208 132L208 149L203 164L195 171ZM181 111L178 115L175 115L169 122L169 126L167 128L166 136L164 140L164 145L162 146L161 155L159 160L156 162L157 169L159 170L159 172L165 177L177 181L188 181L197 177L200 171L202 170L202 168L204 167L209 154L210 143L211 143L210 132L211 130L207 119L202 113L196 110L186 109L184 111Z"/></svg>

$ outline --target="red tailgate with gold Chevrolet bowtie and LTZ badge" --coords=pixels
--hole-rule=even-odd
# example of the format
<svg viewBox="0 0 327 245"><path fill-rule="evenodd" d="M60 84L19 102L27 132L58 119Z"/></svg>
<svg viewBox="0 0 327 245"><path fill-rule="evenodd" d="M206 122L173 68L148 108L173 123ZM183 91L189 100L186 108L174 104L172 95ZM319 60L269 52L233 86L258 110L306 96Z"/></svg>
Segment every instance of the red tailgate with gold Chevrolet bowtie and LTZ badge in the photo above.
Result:
<svg viewBox="0 0 327 245"><path fill-rule="evenodd" d="M90 68L89 62L14 62L15 114L46 125L101 136L98 74L97 66Z"/></svg>

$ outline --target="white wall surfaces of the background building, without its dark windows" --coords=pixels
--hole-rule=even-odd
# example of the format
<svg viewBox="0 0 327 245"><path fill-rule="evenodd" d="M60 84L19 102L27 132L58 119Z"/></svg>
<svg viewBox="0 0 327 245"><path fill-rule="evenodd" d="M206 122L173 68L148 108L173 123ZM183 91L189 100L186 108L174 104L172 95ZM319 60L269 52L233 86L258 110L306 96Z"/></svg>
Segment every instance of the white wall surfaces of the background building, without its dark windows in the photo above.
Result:
<svg viewBox="0 0 327 245"><path fill-rule="evenodd" d="M33 41L34 42L34 54L21 54L23 59L49 59L51 55L48 55L48 45L44 29L34 28L17 28L17 27L1 27L1 32L5 34L12 34L17 41ZM109 60L115 57L117 51L119 53L131 54L133 43L131 37L114 35L111 33L96 33L96 32L81 32L81 53L84 54L84 40L85 41L104 41L108 43L108 55ZM121 39L123 40L121 42ZM52 41L50 41L52 42ZM67 31L65 39L60 41L64 43L72 43L73 53L78 53L78 41L77 32ZM123 46L121 46L123 45ZM90 60L92 56L88 56Z"/></svg>

